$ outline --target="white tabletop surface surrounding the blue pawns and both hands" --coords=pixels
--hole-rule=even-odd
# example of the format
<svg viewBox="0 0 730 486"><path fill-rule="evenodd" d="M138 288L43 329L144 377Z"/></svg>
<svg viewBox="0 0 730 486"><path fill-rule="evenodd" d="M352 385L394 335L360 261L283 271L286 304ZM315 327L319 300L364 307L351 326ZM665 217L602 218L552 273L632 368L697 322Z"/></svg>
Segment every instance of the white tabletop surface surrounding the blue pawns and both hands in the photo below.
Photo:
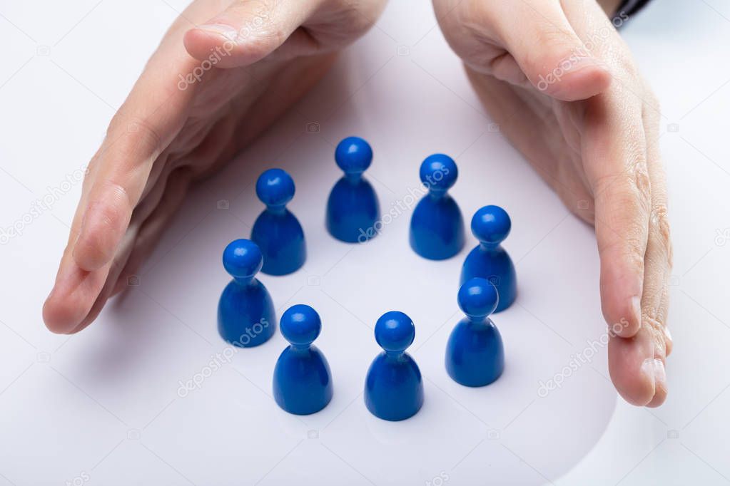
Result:
<svg viewBox="0 0 730 486"><path fill-rule="evenodd" d="M88 162L184 3L0 1L1 227ZM618 398L601 346L560 389L538 396L539 380L605 329L592 230L489 130L429 4L391 0L310 95L191 194L139 286L84 332L50 334L40 317L80 184L0 247L0 485L422 485L439 484L439 474L450 485L730 482L730 7L657 0L623 35L664 115L675 351L663 407ZM319 133L306 133L312 122ZM471 235L457 257L428 262L407 245L408 214L366 246L326 234L326 197L340 175L334 145L351 134L374 148L367 174L383 208L418 187L426 155L445 152L459 165L453 196L467 221L488 203L510 212L505 247L519 297L494 318L507 355L497 383L461 387L442 364L461 318L458 272ZM285 346L278 333L177 393L226 348L215 324L228 281L221 251L250 234L261 211L251 184L272 165L296 181L291 210L310 253L298 273L261 281L279 314L296 302L318 310L317 344L334 375L331 404L303 418L270 396ZM415 321L410 351L426 391L423 409L402 423L372 417L361 395L379 351L372 326L391 309Z"/></svg>

